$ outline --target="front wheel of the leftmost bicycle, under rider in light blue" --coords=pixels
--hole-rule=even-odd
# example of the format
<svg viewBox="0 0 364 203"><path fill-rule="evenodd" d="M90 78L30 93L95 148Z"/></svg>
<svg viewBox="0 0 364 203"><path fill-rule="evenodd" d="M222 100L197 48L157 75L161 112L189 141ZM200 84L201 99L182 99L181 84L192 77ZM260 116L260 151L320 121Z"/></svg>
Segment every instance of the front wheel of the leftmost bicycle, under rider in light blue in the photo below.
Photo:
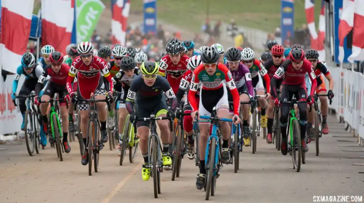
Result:
<svg viewBox="0 0 364 203"><path fill-rule="evenodd" d="M29 124L29 129L28 129ZM25 134L25 143L27 145L28 154L30 156L34 155L35 149L35 138L34 138L34 129L33 129L33 115L30 110L25 112L24 116L24 134Z"/></svg>

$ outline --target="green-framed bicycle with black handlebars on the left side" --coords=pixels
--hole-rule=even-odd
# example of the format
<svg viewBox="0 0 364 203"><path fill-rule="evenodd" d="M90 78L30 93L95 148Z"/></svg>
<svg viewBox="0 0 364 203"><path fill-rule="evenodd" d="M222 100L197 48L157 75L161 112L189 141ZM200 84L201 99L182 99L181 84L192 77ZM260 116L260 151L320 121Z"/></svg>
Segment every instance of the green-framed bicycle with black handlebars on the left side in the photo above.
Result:
<svg viewBox="0 0 364 203"><path fill-rule="evenodd" d="M63 161L62 153L64 152L63 145L61 147L61 138L63 137L63 131L61 127L61 123L59 120L59 114L57 114L58 109L58 102L66 102L66 106L68 108L68 101L64 98L61 99L54 99L50 98L48 101L40 101L39 103L50 103L50 118L48 122L48 129L50 129L50 144L54 147L55 141L55 148L57 151L57 157L60 161Z"/></svg>

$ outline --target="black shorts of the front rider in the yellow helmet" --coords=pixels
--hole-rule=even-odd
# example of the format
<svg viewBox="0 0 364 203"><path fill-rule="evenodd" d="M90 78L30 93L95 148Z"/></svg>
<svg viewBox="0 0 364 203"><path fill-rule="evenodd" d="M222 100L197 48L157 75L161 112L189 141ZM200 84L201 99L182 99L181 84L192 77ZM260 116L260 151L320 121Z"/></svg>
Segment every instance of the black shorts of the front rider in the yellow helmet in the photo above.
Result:
<svg viewBox="0 0 364 203"><path fill-rule="evenodd" d="M151 114L155 115L155 117L159 117L162 114L167 114L167 105L165 102L162 102L162 99L148 98L146 100L135 100L136 102L136 116L138 118L150 117ZM138 121L136 123L137 127L146 126L149 128L149 121Z"/></svg>

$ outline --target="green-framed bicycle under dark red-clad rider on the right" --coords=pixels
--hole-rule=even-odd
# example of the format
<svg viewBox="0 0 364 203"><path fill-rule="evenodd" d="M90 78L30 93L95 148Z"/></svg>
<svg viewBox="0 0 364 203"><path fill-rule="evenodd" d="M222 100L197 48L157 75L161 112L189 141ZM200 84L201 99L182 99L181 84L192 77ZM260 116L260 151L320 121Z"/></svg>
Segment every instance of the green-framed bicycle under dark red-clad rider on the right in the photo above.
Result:
<svg viewBox="0 0 364 203"><path fill-rule="evenodd" d="M290 104L290 113L288 114L289 125L287 128L287 135L290 134L290 141L287 143L289 155L292 157L293 168L296 172L300 171L301 158L304 160L305 152L302 151L301 147L301 133L299 129L298 118L295 113L295 104L307 103L307 101L297 101L293 98L290 102L281 101L280 104ZM297 154L296 154L297 153Z"/></svg>

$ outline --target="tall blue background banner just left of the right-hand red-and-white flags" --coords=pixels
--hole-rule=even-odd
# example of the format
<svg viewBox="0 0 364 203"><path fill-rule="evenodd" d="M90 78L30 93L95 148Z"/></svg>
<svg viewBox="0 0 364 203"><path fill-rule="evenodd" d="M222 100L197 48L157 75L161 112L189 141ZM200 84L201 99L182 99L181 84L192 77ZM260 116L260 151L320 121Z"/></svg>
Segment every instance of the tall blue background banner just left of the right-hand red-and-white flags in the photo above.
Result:
<svg viewBox="0 0 364 203"><path fill-rule="evenodd" d="M281 0L281 36L282 45L286 46L292 43L294 35L295 10L293 0Z"/></svg>

